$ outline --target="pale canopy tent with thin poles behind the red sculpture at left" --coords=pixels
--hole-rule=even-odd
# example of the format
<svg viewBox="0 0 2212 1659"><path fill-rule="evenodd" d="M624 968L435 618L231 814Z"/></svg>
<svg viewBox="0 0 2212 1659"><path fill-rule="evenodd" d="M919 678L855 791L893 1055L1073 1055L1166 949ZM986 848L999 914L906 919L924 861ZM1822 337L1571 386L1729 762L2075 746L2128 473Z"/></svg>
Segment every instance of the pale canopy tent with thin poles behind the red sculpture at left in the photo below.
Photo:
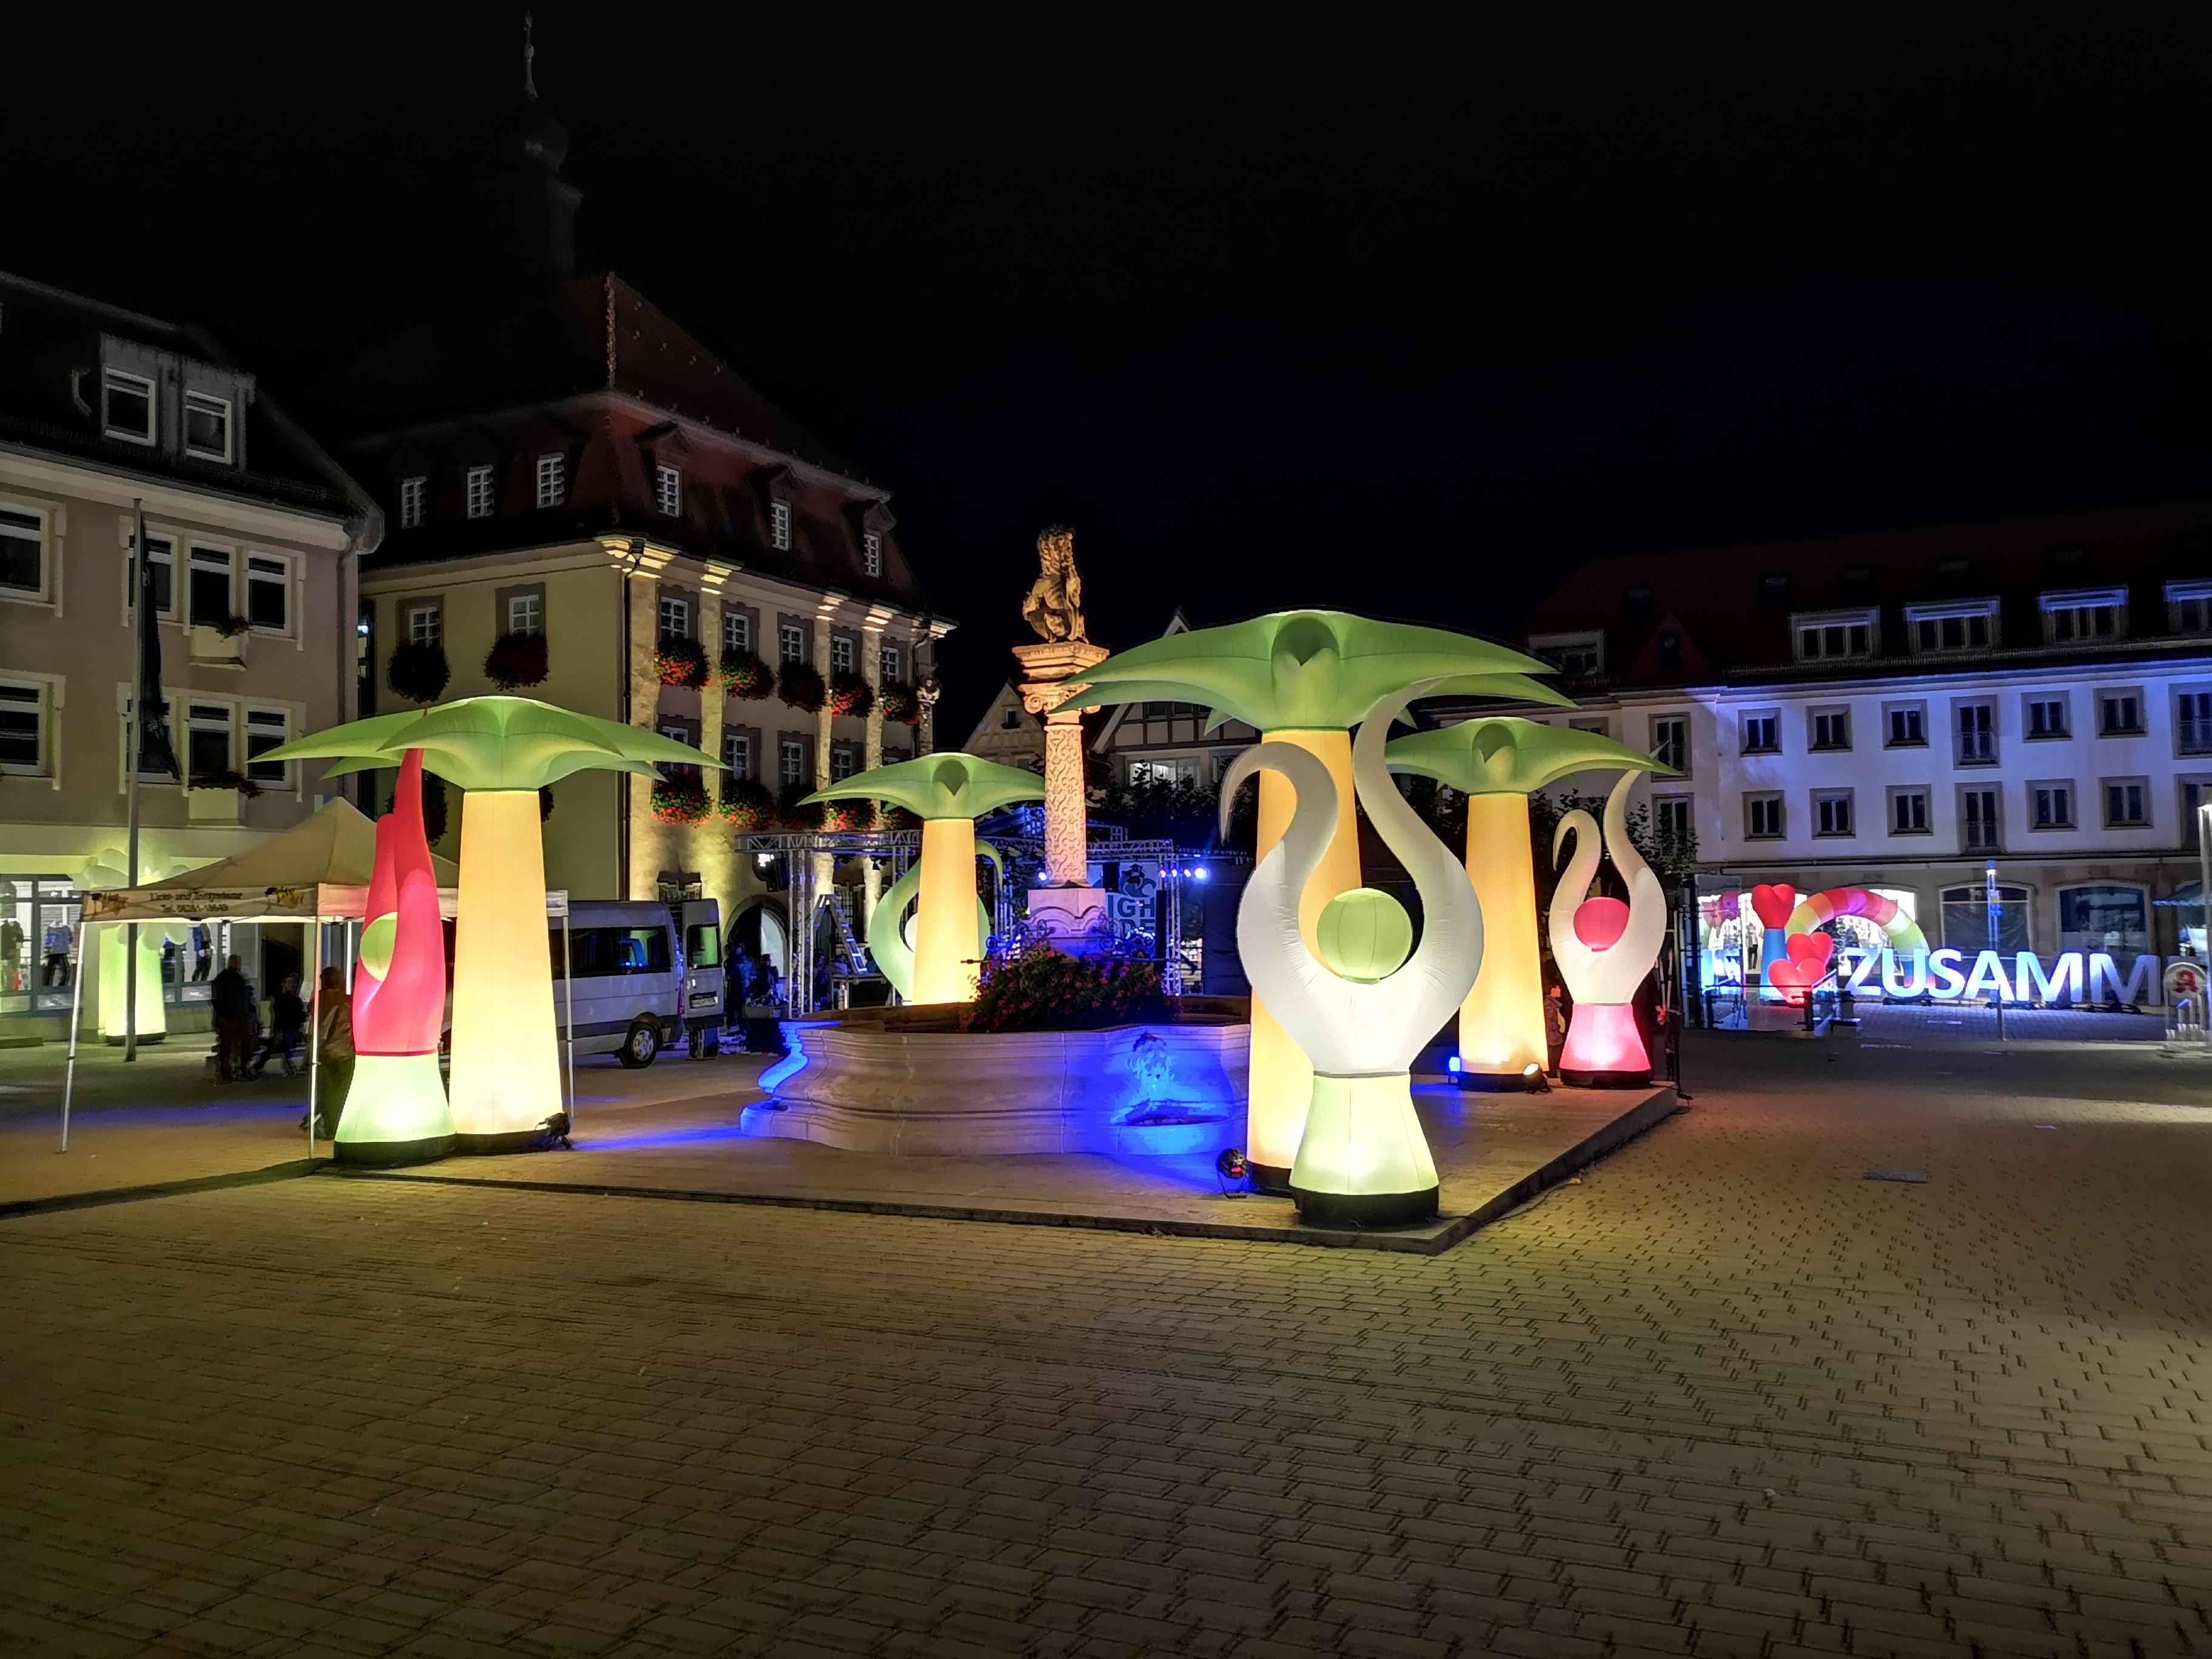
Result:
<svg viewBox="0 0 2212 1659"><path fill-rule="evenodd" d="M438 874L438 914L453 920L460 905L460 872L431 854ZM325 927L338 927L345 982L354 982L352 925L367 916L369 876L376 869L376 825L345 799L327 801L316 814L281 836L181 876L146 887L115 887L86 894L73 940L84 960L84 929L104 922L296 922L316 942ZM568 978L568 894L546 894L546 918L560 918L566 989L564 1046L568 1051L568 1115L575 1117L575 982ZM321 1079L323 975L314 969L321 949L305 960L314 978L307 1024L307 1157L314 1157L314 1102ZM69 1108L77 1091L77 1026L84 1020L84 973L73 975L69 1009L69 1077L62 1084L62 1150L69 1150Z"/></svg>

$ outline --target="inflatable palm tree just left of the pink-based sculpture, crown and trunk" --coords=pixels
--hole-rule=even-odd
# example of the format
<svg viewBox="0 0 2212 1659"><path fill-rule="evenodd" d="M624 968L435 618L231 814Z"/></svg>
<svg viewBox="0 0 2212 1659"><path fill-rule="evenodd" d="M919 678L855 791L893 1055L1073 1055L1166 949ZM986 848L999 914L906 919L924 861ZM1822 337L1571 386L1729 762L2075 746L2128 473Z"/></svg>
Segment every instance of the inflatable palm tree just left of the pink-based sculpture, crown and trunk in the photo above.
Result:
<svg viewBox="0 0 2212 1659"><path fill-rule="evenodd" d="M1528 794L1573 772L1672 772L1626 743L1540 721L1495 719L1413 732L1389 745L1391 772L1418 772L1467 796L1467 878L1482 900L1482 978L1460 1006L1460 1079L1522 1088L1548 1057L1535 922Z"/></svg>

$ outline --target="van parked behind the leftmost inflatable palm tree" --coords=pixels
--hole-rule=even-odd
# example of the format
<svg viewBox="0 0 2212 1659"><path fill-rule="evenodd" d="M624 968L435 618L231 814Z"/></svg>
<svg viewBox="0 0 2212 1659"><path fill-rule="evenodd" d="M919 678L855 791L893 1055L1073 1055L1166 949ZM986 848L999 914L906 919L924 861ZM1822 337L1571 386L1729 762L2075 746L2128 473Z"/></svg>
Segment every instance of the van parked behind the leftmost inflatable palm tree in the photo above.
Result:
<svg viewBox="0 0 2212 1659"><path fill-rule="evenodd" d="M677 936L681 922L684 936ZM553 1018L566 1022L562 931L551 929ZM721 907L712 898L577 898L568 905L575 1051L650 1066L672 1042L721 1048Z"/></svg>

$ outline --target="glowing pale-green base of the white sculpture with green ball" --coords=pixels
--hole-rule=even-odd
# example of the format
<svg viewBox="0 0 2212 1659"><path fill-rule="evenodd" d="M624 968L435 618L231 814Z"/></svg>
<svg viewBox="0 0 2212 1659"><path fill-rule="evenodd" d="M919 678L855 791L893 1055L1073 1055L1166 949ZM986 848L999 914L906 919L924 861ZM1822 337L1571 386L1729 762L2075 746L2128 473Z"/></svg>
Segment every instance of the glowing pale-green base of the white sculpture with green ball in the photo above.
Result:
<svg viewBox="0 0 2212 1659"><path fill-rule="evenodd" d="M1436 1159L1413 1115L1413 1079L1314 1075L1290 1197L1316 1228L1407 1228L1436 1219Z"/></svg>

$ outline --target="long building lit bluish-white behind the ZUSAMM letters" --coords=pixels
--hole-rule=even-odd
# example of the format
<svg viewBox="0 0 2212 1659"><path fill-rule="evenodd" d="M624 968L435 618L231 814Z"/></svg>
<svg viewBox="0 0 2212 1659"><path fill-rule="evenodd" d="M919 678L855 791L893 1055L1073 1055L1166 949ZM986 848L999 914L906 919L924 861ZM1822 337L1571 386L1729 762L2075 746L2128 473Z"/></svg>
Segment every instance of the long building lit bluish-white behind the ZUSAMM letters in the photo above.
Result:
<svg viewBox="0 0 2212 1659"><path fill-rule="evenodd" d="M2203 949L2212 504L1599 560L1524 639L1681 765L1637 794L1705 894L1865 887L1971 967L1995 865L2006 964Z"/></svg>

